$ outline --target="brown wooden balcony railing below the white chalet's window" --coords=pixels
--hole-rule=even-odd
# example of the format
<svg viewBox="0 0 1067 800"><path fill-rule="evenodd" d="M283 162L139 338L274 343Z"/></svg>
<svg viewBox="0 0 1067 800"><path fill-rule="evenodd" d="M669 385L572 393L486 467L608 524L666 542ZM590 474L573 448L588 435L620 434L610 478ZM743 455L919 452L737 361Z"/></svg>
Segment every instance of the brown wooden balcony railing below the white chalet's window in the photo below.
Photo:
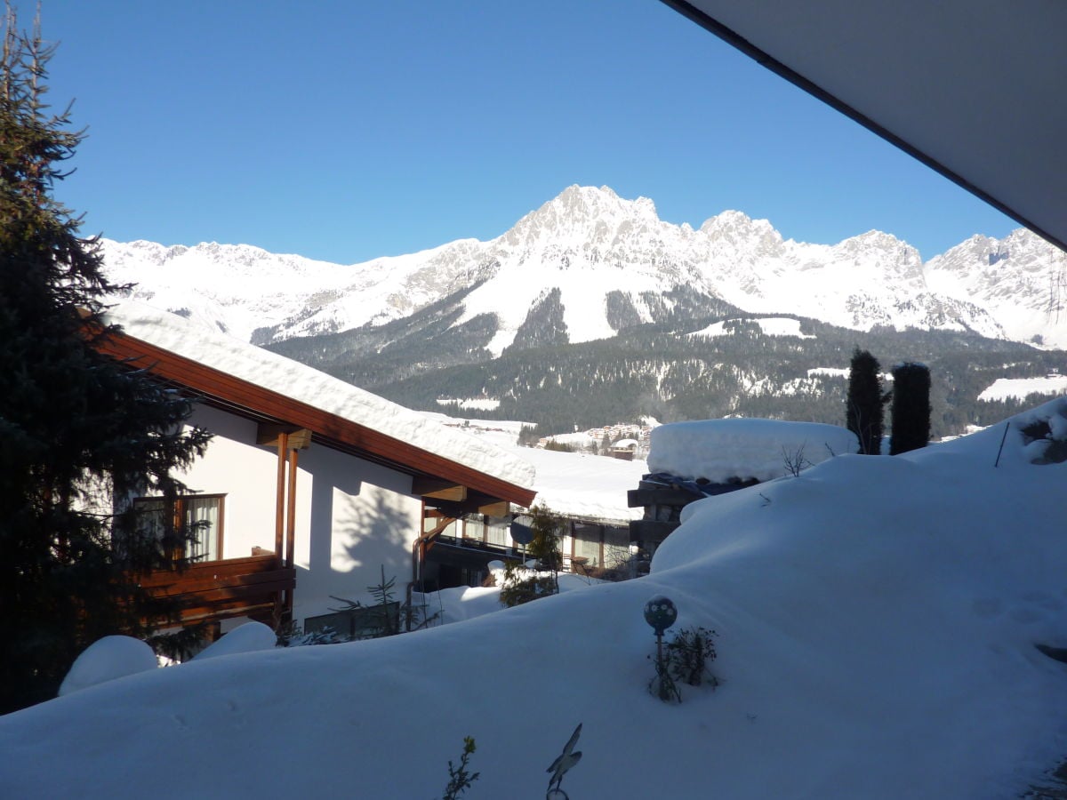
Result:
<svg viewBox="0 0 1067 800"><path fill-rule="evenodd" d="M153 594L177 601L182 624L251 617L271 621L291 598L297 571L282 566L273 553L205 561L182 572L161 570L139 581Z"/></svg>

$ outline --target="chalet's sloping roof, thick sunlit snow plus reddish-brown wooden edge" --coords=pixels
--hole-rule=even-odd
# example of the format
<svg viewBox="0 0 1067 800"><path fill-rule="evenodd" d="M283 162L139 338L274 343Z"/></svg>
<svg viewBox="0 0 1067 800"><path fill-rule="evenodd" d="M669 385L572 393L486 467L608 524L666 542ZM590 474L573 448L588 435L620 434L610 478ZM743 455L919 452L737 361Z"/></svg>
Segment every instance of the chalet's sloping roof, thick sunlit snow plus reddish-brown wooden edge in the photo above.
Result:
<svg viewBox="0 0 1067 800"><path fill-rule="evenodd" d="M106 319L122 326L106 352L137 359L207 402L308 429L313 441L400 471L522 506L534 501L531 464L410 409L143 303L115 305Z"/></svg>

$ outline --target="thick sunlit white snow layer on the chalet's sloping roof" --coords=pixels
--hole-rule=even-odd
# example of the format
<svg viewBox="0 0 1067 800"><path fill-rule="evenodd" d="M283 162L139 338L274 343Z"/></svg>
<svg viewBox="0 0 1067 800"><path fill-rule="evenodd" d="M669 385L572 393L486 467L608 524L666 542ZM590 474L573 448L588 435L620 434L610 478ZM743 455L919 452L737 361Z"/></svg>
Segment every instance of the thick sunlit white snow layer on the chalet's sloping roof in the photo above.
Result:
<svg viewBox="0 0 1067 800"><path fill-rule="evenodd" d="M531 494L528 487L534 482L534 466L529 462L317 369L143 303L115 305L108 311L107 321L120 324L126 339L147 342L251 386L284 396L302 406L331 415L341 426L345 422L357 426L363 446L382 450L376 453L379 457L403 463L402 451L416 448L419 454L439 457L432 460L439 466L459 467L451 471L460 477L464 468L480 474L473 476L475 481L495 487L497 491L490 492L495 496L519 501L515 495ZM200 386L194 388L203 390ZM336 433L314 427L313 431L328 435ZM510 484L511 491L503 486L501 494L501 487L495 486L500 482Z"/></svg>

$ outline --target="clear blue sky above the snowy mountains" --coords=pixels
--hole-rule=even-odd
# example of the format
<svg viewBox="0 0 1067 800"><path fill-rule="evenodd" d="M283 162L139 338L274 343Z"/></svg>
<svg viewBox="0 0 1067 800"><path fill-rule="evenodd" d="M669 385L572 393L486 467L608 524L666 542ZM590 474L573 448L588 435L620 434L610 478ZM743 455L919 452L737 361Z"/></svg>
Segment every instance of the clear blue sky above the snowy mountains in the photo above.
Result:
<svg viewBox="0 0 1067 800"><path fill-rule="evenodd" d="M19 0L20 22L32 4ZM44 0L83 233L350 263L490 239L571 183L929 258L1016 223L658 0Z"/></svg>

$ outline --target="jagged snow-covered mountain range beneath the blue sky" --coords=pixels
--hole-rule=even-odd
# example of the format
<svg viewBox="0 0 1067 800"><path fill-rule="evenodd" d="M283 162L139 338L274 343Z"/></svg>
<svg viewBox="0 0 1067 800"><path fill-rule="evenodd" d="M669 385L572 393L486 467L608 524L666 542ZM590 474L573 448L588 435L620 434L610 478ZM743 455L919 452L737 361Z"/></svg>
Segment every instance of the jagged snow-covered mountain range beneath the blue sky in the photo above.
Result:
<svg viewBox="0 0 1067 800"><path fill-rule="evenodd" d="M488 349L499 354L546 304L582 342L657 321L686 287L860 331L969 330L1067 348L1067 255L1029 230L974 236L924 263L877 230L828 245L783 240L739 211L674 225L652 201L607 187L572 186L490 241L350 266L243 244L103 240L103 254L113 281L138 284L133 297L255 343L383 324L469 289L453 325L495 319Z"/></svg>

